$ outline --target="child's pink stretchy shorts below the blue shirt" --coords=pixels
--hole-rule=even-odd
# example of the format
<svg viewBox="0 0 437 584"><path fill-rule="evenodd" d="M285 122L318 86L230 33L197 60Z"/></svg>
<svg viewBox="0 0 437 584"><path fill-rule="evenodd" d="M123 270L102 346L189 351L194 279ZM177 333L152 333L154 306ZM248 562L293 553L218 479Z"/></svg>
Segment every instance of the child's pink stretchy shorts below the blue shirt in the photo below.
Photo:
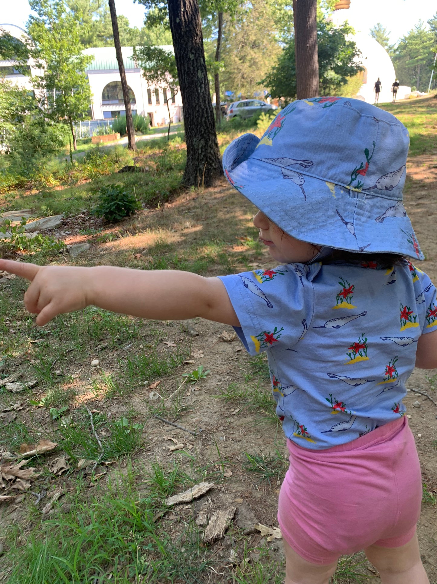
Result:
<svg viewBox="0 0 437 584"><path fill-rule="evenodd" d="M330 449L290 440L287 446L278 520L302 558L331 564L369 545L399 547L414 536L422 481L406 416Z"/></svg>

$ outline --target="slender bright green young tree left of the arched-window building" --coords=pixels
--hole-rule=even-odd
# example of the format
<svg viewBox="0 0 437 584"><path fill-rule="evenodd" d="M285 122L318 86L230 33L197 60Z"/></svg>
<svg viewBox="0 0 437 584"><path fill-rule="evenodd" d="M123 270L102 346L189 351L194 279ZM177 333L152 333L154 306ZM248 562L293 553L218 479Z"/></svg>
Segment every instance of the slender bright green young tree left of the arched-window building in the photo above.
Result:
<svg viewBox="0 0 437 584"><path fill-rule="evenodd" d="M29 5L36 12L26 25L30 57L40 70L31 82L46 116L68 124L77 150L74 124L89 117L91 90L86 67L92 57L82 54L79 24L66 11L64 0L30 0Z"/></svg>

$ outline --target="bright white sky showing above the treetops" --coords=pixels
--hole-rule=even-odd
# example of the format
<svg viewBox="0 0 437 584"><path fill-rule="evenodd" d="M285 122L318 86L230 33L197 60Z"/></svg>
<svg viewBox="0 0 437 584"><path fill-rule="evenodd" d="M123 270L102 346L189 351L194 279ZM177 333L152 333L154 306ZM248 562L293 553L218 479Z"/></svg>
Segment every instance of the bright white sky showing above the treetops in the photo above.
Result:
<svg viewBox="0 0 437 584"><path fill-rule="evenodd" d="M30 13L27 0L0 2L0 22L23 26ZM132 0L115 0L115 8L117 14L127 16L131 26L142 26L144 6ZM419 19L426 22L436 12L435 0L351 0L350 9L338 11L357 32L368 32L380 22L390 32L391 43L396 43Z"/></svg>

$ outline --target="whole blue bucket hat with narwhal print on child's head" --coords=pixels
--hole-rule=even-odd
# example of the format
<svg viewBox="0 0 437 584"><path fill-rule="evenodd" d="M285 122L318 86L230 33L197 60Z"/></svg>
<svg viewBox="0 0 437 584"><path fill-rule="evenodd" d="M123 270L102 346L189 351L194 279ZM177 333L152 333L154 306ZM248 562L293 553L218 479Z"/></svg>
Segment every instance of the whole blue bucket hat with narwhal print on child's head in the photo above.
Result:
<svg viewBox="0 0 437 584"><path fill-rule="evenodd" d="M312 244L424 259L402 203L408 131L357 99L290 103L261 139L223 155L232 186L286 233Z"/></svg>

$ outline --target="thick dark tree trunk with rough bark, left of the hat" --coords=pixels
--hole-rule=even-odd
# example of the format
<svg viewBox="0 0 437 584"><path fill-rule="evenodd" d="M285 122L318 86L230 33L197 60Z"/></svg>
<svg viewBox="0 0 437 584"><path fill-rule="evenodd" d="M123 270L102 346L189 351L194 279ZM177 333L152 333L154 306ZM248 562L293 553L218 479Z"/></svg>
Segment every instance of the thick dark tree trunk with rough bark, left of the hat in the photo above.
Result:
<svg viewBox="0 0 437 584"><path fill-rule="evenodd" d="M223 174L203 52L198 0L167 0L184 105L186 166L182 184L212 186Z"/></svg>

